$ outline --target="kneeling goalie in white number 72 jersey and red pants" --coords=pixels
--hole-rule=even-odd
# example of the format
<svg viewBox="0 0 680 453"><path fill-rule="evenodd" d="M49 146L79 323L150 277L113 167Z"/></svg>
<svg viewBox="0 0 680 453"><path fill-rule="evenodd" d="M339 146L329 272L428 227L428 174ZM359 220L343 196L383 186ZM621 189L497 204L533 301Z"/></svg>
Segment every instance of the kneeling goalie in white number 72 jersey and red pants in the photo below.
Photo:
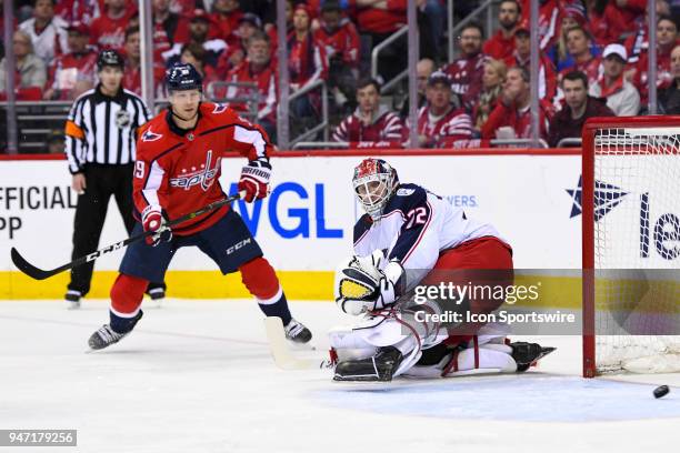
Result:
<svg viewBox="0 0 680 453"><path fill-rule="evenodd" d="M352 183L367 213L354 226L354 255L336 275L336 303L363 319L330 332L338 359L334 380L521 372L552 352L536 343L510 343L501 323L423 320L423 312L442 314L446 305L430 303L431 295L420 305L416 286L510 286L510 245L491 224L468 218L419 185L400 183L381 159L363 160ZM470 292L456 306L463 314L491 313L502 302Z"/></svg>

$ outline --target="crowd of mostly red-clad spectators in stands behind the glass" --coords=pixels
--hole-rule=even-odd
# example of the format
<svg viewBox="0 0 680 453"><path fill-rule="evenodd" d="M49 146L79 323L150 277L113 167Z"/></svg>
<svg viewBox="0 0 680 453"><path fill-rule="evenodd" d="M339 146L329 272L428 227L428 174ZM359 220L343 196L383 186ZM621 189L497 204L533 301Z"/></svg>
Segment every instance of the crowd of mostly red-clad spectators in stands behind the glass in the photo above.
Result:
<svg viewBox="0 0 680 453"><path fill-rule="evenodd" d="M6 0L8 1L8 0ZM361 145L400 147L416 127L423 148L469 147L531 137L531 38L538 39L540 137L551 147L580 135L593 115L646 114L649 33L647 0L540 0L530 29L529 0L500 0L494 29L469 22L453 61L446 56L446 0L416 0L420 36L418 123L410 100L382 99L381 87L407 67L406 36L380 59L371 79L371 49L407 23L407 0L287 0L291 94L324 81L337 121L331 137ZM660 113L680 113L678 11L657 0L657 80ZM97 84L99 51L126 59L124 87L141 93L138 2L34 0L16 3L16 84L19 100L73 100ZM206 93L251 114L276 135L279 74L276 0L151 0L153 79L190 62ZM478 0L457 1L470 11ZM2 21L0 20L0 24ZM8 64L0 62L0 95ZM254 90L254 98L253 98ZM244 99L258 99L257 112ZM293 97L293 127L318 121L321 91ZM391 101L391 100L390 100Z"/></svg>

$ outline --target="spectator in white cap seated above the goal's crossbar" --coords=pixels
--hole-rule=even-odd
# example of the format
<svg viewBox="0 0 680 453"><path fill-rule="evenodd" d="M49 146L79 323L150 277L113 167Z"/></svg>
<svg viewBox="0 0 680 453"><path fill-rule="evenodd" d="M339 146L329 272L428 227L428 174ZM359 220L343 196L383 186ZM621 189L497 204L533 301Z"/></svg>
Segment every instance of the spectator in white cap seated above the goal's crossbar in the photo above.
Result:
<svg viewBox="0 0 680 453"><path fill-rule="evenodd" d="M628 54L621 44L609 44L602 52L604 72L600 80L590 87L594 98L607 98L607 107L617 117L632 117L640 111L640 93L623 77Z"/></svg>

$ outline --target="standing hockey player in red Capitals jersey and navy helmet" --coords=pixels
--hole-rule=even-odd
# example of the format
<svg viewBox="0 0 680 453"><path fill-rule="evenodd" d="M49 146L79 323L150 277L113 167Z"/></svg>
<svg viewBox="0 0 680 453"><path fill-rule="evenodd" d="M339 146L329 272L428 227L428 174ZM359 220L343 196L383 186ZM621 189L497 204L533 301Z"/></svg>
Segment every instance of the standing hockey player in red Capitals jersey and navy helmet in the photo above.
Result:
<svg viewBox="0 0 680 453"><path fill-rule="evenodd" d="M233 110L201 102L202 80L191 64L166 74L170 107L144 124L137 145L133 198L138 224L132 234L153 231L148 241L131 243L111 288L110 323L89 340L93 350L109 346L132 331L142 316L141 301L149 281L162 281L174 252L198 246L223 274L239 271L243 284L267 316L280 316L287 338L298 343L311 332L293 320L272 266L243 223L224 205L170 230L177 219L223 199L218 181L222 155L238 151L248 159L238 189L253 202L268 194L271 143L258 125ZM160 279L160 280L159 280Z"/></svg>

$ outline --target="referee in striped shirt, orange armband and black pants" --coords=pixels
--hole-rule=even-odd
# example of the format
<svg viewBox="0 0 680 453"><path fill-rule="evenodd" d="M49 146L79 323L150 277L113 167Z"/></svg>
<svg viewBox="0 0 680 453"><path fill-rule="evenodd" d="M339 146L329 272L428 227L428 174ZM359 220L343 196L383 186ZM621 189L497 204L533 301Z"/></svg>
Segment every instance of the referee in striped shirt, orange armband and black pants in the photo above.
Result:
<svg viewBox="0 0 680 453"><path fill-rule="evenodd" d="M123 59L104 50L97 60L99 84L80 95L66 123L67 159L79 194L73 224L72 259L97 250L111 195L116 198L128 234L132 217L132 171L137 130L149 120L143 101L122 88ZM69 309L80 308L90 291L94 262L71 270L66 294ZM151 283L151 299L166 295L164 284Z"/></svg>

